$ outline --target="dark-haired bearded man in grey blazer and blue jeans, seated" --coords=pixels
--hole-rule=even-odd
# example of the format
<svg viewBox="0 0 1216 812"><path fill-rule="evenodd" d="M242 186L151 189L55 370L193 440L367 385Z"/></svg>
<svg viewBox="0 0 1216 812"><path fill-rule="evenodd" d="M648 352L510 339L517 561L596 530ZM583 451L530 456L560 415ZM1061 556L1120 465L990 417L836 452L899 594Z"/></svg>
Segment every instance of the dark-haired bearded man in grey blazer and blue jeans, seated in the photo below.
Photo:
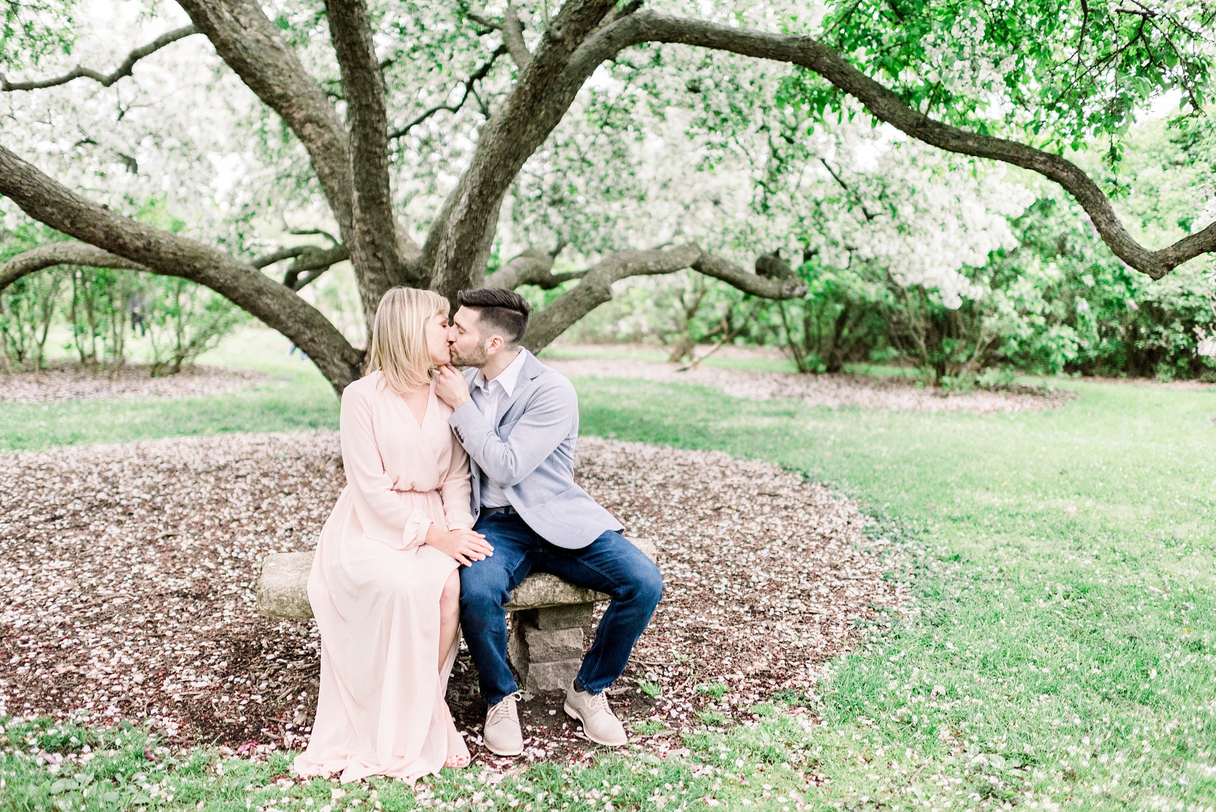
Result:
<svg viewBox="0 0 1216 812"><path fill-rule="evenodd" d="M452 432L472 466L474 529L494 548L461 568L461 627L489 705L485 746L500 756L523 752L503 607L531 571L612 596L564 706L589 739L619 746L625 728L603 692L651 622L663 577L574 484L578 397L569 380L519 346L530 311L523 297L478 289L462 291L458 301L447 339L452 363L471 368L461 377L444 367L435 391L455 410Z"/></svg>

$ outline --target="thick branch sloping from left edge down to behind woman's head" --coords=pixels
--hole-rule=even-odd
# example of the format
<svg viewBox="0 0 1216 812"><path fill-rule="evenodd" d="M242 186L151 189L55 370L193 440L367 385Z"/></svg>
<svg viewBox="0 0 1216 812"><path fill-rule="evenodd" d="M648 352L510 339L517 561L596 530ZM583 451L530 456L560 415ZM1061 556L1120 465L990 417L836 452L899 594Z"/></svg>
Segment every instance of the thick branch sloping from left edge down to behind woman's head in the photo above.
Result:
<svg viewBox="0 0 1216 812"><path fill-rule="evenodd" d="M0 147L0 194L39 222L102 252L117 254L152 274L182 277L215 291L292 339L336 391L340 393L359 377L362 353L313 305L252 265L91 203L4 147ZM103 259L101 254L94 255L90 264Z"/></svg>

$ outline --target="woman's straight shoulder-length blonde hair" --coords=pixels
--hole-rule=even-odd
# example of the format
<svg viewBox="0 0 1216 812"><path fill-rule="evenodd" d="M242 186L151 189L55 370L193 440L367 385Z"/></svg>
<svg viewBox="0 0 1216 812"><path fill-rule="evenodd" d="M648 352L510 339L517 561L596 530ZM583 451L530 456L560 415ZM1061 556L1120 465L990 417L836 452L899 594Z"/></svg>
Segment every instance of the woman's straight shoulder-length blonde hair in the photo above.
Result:
<svg viewBox="0 0 1216 812"><path fill-rule="evenodd" d="M447 299L434 291L389 288L376 310L367 374L379 370L388 388L399 395L427 385L434 368L427 349L427 322L447 311Z"/></svg>

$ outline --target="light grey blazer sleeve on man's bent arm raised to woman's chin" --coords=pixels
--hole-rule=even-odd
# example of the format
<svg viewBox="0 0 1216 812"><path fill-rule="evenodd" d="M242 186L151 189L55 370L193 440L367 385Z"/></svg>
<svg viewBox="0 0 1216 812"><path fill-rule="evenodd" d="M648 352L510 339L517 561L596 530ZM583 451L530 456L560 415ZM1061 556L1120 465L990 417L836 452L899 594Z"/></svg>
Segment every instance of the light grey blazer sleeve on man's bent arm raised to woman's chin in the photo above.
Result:
<svg viewBox="0 0 1216 812"><path fill-rule="evenodd" d="M574 387L561 376L546 376L506 440L499 438L472 401L449 418L465 450L499 487L518 485L569 436L579 411Z"/></svg>

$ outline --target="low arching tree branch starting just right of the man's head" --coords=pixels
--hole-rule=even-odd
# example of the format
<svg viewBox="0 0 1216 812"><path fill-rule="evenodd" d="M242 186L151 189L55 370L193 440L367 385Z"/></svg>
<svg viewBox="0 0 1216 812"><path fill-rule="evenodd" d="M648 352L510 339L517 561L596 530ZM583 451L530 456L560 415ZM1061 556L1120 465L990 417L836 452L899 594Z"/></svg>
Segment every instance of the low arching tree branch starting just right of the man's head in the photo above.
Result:
<svg viewBox="0 0 1216 812"><path fill-rule="evenodd" d="M806 293L806 284L800 280L770 280L748 274L727 259L703 252L697 243L664 250L623 250L596 263L576 287L535 314L522 344L539 353L574 322L612 299L613 282L629 276L674 274L686 267L766 299L793 299Z"/></svg>

